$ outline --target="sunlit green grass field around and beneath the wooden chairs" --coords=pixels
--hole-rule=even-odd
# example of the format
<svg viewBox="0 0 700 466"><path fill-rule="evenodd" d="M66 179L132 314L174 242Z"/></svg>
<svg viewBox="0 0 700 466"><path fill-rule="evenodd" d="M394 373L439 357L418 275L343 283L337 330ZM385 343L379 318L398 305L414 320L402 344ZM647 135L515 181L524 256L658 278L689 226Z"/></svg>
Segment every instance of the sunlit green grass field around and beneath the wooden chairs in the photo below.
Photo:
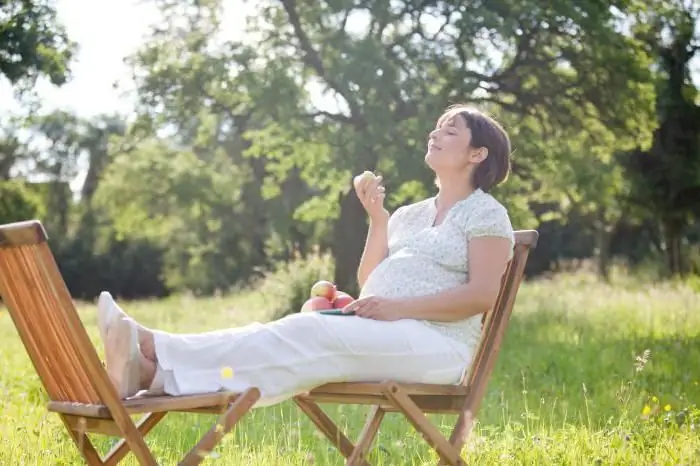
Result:
<svg viewBox="0 0 700 466"><path fill-rule="evenodd" d="M265 320L259 294L134 302L149 326L209 330ZM81 315L97 341L92 305ZM0 464L81 464L45 398L6 313L0 313ZM603 285L586 275L523 286L477 425L472 464L700 464L700 290L689 285ZM329 407L356 437L365 409ZM161 464L175 464L215 422L171 415L149 436ZM436 416L447 430L451 416ZM106 449L107 438L97 444ZM398 415L385 418L370 461L435 464ZM136 464L128 457L125 464ZM289 403L257 409L206 464L340 465L340 456Z"/></svg>

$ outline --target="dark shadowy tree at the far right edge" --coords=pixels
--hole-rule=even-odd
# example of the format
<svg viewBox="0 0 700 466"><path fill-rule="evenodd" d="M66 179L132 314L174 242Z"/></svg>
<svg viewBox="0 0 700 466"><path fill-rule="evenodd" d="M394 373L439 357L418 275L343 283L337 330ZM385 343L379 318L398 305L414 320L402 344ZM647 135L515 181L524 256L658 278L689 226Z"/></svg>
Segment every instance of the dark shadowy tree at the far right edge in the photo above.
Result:
<svg viewBox="0 0 700 466"><path fill-rule="evenodd" d="M683 237L700 218L700 106L690 62L700 52L700 8L692 2L664 3L637 31L658 57L656 100L660 121L650 149L638 148L627 161L638 210L657 219L671 274L683 274ZM651 20L650 20L651 19Z"/></svg>

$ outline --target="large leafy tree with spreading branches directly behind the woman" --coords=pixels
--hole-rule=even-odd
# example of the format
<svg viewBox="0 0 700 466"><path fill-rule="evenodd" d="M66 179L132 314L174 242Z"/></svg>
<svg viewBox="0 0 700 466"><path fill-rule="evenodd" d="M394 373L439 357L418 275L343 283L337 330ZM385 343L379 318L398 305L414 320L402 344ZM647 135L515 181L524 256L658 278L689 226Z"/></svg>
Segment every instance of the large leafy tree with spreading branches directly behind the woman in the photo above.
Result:
<svg viewBox="0 0 700 466"><path fill-rule="evenodd" d="M547 167L582 150L591 122L615 145L595 151L600 167L653 122L651 62L625 31L637 3L270 0L249 18L254 46L222 37L218 1L159 3L163 24L131 60L144 134L167 128L201 156L225 147L252 174L243 199L255 237L274 236L271 225L290 237L278 221L289 212L287 225L331 248L350 291L366 233L352 174L381 172L390 209L429 194L425 141L450 103L508 123L515 175L498 193L523 227L528 202L565 198ZM576 147L549 143L563 135Z"/></svg>

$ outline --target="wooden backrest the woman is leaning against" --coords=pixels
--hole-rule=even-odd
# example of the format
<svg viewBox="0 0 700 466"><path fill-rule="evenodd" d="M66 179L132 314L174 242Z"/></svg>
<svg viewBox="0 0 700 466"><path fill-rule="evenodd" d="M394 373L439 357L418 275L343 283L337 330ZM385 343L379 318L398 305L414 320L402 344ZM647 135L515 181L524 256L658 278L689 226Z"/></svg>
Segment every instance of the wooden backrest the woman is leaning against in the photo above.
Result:
<svg viewBox="0 0 700 466"><path fill-rule="evenodd" d="M484 317L481 342L474 355L472 365L463 384L469 388L464 410L476 417L486 391L493 366L498 358L501 342L513 312L515 298L520 289L530 251L537 246L539 233L536 230L515 232L515 246L506 271L501 280L501 290L493 309Z"/></svg>

